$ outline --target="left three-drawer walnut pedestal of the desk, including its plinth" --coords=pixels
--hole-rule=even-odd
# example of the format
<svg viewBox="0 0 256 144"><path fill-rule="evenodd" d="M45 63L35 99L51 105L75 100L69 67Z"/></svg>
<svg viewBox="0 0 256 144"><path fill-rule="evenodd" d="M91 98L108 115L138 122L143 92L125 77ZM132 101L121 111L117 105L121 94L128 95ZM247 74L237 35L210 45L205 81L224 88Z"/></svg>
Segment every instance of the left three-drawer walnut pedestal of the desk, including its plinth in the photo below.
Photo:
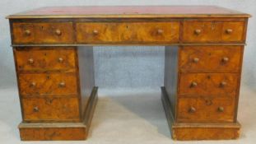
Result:
<svg viewBox="0 0 256 144"><path fill-rule="evenodd" d="M85 140L97 102L92 47L14 47L13 53L21 140Z"/></svg>

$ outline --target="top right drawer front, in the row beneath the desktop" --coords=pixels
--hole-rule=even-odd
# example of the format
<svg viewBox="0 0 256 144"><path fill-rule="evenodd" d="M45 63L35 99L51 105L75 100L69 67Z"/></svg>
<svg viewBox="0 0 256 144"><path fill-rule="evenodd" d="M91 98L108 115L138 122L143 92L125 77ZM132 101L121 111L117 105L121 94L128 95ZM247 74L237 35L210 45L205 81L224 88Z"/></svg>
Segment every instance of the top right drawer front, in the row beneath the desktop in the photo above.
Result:
<svg viewBox="0 0 256 144"><path fill-rule="evenodd" d="M242 42L244 21L184 21L183 41L196 42Z"/></svg>

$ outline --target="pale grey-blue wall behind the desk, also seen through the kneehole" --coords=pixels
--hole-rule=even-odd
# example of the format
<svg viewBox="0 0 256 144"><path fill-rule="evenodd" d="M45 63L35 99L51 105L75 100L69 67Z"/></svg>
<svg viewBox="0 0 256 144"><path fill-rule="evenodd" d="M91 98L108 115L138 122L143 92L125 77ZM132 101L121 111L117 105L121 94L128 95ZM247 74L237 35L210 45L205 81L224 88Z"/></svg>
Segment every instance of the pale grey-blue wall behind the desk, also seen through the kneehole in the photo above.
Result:
<svg viewBox="0 0 256 144"><path fill-rule="evenodd" d="M79 5L218 5L256 16L256 0L1 0L0 87L16 86L11 39L5 16L45 6ZM242 86L256 86L256 21L249 19ZM156 87L163 85L163 47L95 47L95 80L100 87Z"/></svg>

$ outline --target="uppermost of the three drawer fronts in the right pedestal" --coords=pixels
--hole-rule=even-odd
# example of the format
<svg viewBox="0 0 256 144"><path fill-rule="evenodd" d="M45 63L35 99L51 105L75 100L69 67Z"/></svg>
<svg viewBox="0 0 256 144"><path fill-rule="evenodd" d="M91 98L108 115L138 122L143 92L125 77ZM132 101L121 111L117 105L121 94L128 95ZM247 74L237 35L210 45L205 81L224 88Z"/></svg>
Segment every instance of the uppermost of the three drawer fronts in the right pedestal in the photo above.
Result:
<svg viewBox="0 0 256 144"><path fill-rule="evenodd" d="M180 72L240 72L241 46L185 46L179 52Z"/></svg>

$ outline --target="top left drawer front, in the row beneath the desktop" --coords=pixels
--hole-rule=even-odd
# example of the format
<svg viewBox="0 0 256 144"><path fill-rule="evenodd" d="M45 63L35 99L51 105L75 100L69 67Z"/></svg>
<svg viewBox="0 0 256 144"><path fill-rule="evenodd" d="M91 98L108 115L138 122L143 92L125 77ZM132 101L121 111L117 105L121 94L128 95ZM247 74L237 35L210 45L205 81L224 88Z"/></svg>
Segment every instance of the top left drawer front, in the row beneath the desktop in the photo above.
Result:
<svg viewBox="0 0 256 144"><path fill-rule="evenodd" d="M72 22L13 23L14 44L72 44Z"/></svg>

